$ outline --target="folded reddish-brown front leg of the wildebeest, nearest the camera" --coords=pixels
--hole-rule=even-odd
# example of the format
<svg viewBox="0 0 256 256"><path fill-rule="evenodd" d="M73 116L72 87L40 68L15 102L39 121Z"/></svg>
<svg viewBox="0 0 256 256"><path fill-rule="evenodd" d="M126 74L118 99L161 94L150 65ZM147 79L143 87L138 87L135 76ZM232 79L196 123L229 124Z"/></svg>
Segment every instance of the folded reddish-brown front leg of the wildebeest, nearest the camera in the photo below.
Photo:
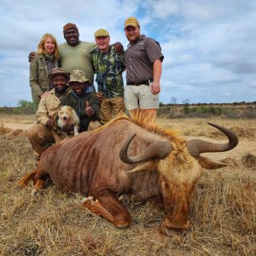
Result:
<svg viewBox="0 0 256 256"><path fill-rule="evenodd" d="M96 201L92 201L92 197L84 199L82 201L84 207L101 215L103 218L107 218L117 228L125 228L130 224L131 217L129 212L119 203L112 191L102 190L96 197Z"/></svg>

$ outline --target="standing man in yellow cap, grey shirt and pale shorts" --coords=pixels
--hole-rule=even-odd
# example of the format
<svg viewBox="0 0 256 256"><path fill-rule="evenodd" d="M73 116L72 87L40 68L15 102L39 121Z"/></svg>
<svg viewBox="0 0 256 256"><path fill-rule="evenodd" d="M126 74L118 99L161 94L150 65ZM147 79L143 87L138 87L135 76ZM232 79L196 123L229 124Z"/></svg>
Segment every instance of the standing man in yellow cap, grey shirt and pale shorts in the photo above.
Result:
<svg viewBox="0 0 256 256"><path fill-rule="evenodd" d="M131 116L152 122L159 108L164 56L158 42L141 35L135 17L125 20L125 36L130 41L125 50L125 108L130 110Z"/></svg>

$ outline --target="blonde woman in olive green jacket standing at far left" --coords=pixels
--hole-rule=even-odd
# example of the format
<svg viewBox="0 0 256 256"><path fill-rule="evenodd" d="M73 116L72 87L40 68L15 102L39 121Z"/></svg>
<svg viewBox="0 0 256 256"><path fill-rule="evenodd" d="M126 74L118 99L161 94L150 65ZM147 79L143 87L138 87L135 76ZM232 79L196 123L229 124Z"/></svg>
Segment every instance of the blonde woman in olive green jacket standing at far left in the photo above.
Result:
<svg viewBox="0 0 256 256"><path fill-rule="evenodd" d="M35 112L38 110L40 99L53 89L48 74L53 68L58 67L58 58L59 48L55 37L49 33L44 34L38 44L36 58L30 64L29 84Z"/></svg>

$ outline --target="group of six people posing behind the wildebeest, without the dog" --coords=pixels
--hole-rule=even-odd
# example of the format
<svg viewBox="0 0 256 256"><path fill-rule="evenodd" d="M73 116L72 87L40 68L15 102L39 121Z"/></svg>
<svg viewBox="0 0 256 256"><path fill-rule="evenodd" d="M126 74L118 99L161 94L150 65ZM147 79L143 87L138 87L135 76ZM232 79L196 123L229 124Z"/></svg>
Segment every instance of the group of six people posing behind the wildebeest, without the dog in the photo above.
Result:
<svg viewBox="0 0 256 256"><path fill-rule="evenodd" d="M35 154L40 156L47 143L58 143L63 132L73 127L56 126L57 109L70 106L80 119L80 131L95 129L113 118L113 113L129 111L152 122L159 108L160 75L164 56L160 44L141 35L135 17L125 20L130 44L110 45L105 29L95 32L95 43L79 40L73 23L63 26L66 43L58 46L46 33L37 53L29 55L30 85L38 125L28 131ZM126 70L126 86L122 73ZM96 74L97 91L93 84Z"/></svg>

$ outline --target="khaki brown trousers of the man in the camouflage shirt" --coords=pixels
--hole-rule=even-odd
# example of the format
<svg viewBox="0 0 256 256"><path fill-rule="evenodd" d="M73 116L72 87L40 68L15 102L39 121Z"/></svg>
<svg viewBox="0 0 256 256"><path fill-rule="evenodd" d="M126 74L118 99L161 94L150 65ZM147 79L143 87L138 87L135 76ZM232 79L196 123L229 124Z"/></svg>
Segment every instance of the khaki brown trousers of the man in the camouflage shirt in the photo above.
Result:
<svg viewBox="0 0 256 256"><path fill-rule="evenodd" d="M106 124L117 113L125 113L125 101L122 97L102 100L100 118L102 124Z"/></svg>

